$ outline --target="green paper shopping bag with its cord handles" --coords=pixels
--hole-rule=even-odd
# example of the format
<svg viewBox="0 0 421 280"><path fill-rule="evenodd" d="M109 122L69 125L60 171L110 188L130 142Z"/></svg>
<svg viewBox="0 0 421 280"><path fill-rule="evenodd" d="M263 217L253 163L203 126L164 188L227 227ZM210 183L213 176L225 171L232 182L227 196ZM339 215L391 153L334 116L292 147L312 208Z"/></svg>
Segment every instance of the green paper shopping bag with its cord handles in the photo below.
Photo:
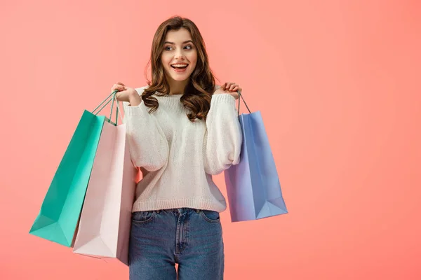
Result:
<svg viewBox="0 0 421 280"><path fill-rule="evenodd" d="M97 151L102 126L109 119L97 114L114 99L112 94L92 112L84 111L74 131L69 146L44 197L41 210L29 233L38 237L72 247L76 227L85 199L86 188L91 176L93 160ZM109 100L108 100L109 99ZM108 102L107 102L108 100ZM95 112L104 102L102 108ZM111 109L112 113L112 109ZM116 117L119 113L117 106ZM115 123L113 123L115 125Z"/></svg>

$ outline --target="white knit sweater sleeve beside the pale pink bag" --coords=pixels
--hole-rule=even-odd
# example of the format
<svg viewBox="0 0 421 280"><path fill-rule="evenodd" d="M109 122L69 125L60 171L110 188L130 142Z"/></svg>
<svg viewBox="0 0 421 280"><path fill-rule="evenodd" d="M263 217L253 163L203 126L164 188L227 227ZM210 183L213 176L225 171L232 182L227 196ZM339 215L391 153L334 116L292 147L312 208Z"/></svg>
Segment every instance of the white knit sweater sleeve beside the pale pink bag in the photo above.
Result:
<svg viewBox="0 0 421 280"><path fill-rule="evenodd" d="M142 88L138 90L142 94ZM143 101L138 106L123 102L128 147L133 165L153 172L168 160L168 141L155 116L151 116Z"/></svg>

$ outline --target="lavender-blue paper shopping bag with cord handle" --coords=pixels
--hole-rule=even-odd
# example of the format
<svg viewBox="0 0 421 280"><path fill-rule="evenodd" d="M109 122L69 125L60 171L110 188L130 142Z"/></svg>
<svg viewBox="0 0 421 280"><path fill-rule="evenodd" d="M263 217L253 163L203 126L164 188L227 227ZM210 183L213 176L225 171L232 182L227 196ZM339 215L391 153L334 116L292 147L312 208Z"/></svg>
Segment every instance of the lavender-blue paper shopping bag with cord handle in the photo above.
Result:
<svg viewBox="0 0 421 280"><path fill-rule="evenodd" d="M239 116L243 134L240 162L224 172L232 222L288 213L261 113L248 111Z"/></svg>

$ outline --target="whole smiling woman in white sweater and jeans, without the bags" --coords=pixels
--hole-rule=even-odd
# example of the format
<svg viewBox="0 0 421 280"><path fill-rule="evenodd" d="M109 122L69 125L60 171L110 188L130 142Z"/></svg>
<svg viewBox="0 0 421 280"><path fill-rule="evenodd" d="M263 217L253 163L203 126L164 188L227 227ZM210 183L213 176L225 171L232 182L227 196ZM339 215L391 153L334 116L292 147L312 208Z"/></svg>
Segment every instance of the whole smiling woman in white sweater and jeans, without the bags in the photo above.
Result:
<svg viewBox="0 0 421 280"><path fill-rule="evenodd" d="M215 86L203 38L186 18L156 31L152 82L116 83L128 146L142 170L133 204L130 279L223 279L219 213L225 197L212 181L239 162L241 127L235 83Z"/></svg>

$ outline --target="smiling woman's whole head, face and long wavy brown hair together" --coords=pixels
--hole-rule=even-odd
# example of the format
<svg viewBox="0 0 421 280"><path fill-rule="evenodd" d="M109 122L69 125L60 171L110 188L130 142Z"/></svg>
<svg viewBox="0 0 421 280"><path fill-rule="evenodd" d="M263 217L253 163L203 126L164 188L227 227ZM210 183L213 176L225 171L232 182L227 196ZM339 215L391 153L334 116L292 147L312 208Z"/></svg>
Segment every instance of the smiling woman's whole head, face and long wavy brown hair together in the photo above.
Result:
<svg viewBox="0 0 421 280"><path fill-rule="evenodd" d="M189 120L206 120L216 88L215 78L205 42L194 22L180 17L162 22L152 41L149 64L152 81L142 93L142 100L150 112L159 107L153 96L156 92L156 95L182 94L180 102L189 109Z"/></svg>

